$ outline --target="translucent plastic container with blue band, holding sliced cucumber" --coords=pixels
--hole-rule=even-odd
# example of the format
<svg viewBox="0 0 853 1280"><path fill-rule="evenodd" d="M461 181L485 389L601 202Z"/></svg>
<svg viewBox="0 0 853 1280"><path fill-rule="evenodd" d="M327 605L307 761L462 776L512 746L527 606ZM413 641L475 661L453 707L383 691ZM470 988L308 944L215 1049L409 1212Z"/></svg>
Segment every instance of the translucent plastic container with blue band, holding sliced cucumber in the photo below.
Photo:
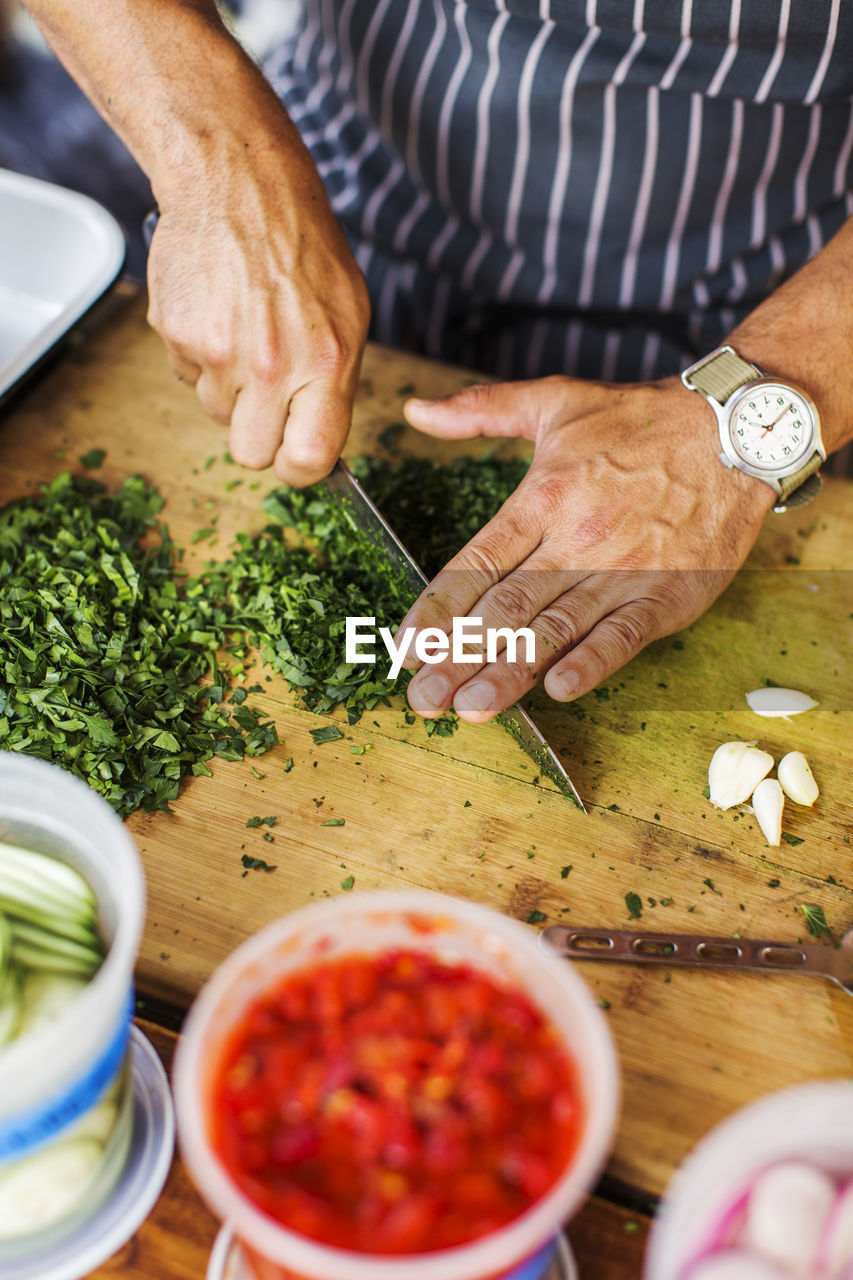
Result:
<svg viewBox="0 0 853 1280"><path fill-rule="evenodd" d="M145 886L133 842L109 805L63 769L12 751L0 751L0 840L77 868L95 892L109 947L54 1023L0 1051L0 1274L6 1276L93 1216L126 1167ZM45 1167L63 1170L61 1193L50 1188ZM24 1179L31 1192L22 1201Z"/></svg>

